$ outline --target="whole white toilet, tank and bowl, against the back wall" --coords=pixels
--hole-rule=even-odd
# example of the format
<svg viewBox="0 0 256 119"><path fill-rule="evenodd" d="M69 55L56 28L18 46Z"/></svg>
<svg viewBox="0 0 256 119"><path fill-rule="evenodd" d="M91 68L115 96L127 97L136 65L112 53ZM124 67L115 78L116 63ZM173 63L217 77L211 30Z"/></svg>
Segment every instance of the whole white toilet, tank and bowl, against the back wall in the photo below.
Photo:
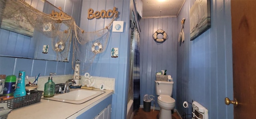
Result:
<svg viewBox="0 0 256 119"><path fill-rule="evenodd" d="M175 99L171 97L173 83L155 80L157 103L160 106L159 119L172 119L172 109L175 107Z"/></svg>

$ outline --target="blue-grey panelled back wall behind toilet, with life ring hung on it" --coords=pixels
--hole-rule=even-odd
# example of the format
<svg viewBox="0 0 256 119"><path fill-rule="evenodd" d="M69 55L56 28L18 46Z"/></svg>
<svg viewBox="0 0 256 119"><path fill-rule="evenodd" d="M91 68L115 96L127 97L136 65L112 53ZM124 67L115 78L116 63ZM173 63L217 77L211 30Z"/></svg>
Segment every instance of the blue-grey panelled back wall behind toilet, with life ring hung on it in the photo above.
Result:
<svg viewBox="0 0 256 119"><path fill-rule="evenodd" d="M174 80L172 97L176 99L177 86L177 44L178 29L176 17L146 18L140 20L140 105L143 105L145 94L156 96L156 72L167 70ZM164 43L156 43L152 35L158 29L163 29L168 39ZM180 30L180 29L179 29ZM151 103L153 106L153 103ZM158 106L156 98L156 107Z"/></svg>

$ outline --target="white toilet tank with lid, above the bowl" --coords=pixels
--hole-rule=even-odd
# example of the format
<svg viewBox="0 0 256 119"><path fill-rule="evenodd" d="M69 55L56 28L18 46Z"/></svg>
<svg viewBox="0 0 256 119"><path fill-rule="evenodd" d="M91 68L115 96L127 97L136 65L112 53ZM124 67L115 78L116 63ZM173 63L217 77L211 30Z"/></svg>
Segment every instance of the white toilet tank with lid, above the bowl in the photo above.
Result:
<svg viewBox="0 0 256 119"><path fill-rule="evenodd" d="M172 96L172 86L174 82L165 82L155 80L156 95Z"/></svg>

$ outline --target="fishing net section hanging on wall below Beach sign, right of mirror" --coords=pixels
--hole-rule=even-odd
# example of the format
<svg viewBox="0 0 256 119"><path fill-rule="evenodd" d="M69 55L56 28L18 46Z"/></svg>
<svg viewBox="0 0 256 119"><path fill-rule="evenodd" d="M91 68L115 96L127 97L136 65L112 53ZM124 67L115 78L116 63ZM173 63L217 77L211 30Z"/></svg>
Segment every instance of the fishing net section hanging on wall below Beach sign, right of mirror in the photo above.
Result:
<svg viewBox="0 0 256 119"><path fill-rule="evenodd" d="M100 29L98 31L85 32L78 26L74 28L74 37L76 38L73 38L73 51L75 54L73 54L72 60L75 60L76 58L81 60L81 62L85 62L86 64L84 65L84 72L86 72L86 70L90 68L96 55L103 53L106 50L110 34L110 27L112 26L112 22L114 21L114 19L115 18L113 18L112 21L104 29ZM103 49L98 54L92 52L92 45L94 43L102 44ZM81 49L81 47L85 47L85 49ZM81 51L86 51L86 54L84 54L84 52L82 52L83 54L81 54ZM84 59L81 59L80 56L84 56Z"/></svg>

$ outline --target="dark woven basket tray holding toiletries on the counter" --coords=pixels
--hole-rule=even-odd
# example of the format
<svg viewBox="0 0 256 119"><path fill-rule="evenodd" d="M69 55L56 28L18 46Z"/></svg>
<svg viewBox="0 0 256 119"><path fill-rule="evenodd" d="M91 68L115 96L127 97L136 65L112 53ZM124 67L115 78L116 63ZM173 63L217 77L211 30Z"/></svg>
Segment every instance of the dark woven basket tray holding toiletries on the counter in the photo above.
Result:
<svg viewBox="0 0 256 119"><path fill-rule="evenodd" d="M3 101L0 101L0 103L7 103L7 107L9 109L17 109L20 107L24 107L27 105L40 102L42 93L43 91L37 91L30 95L3 100Z"/></svg>

